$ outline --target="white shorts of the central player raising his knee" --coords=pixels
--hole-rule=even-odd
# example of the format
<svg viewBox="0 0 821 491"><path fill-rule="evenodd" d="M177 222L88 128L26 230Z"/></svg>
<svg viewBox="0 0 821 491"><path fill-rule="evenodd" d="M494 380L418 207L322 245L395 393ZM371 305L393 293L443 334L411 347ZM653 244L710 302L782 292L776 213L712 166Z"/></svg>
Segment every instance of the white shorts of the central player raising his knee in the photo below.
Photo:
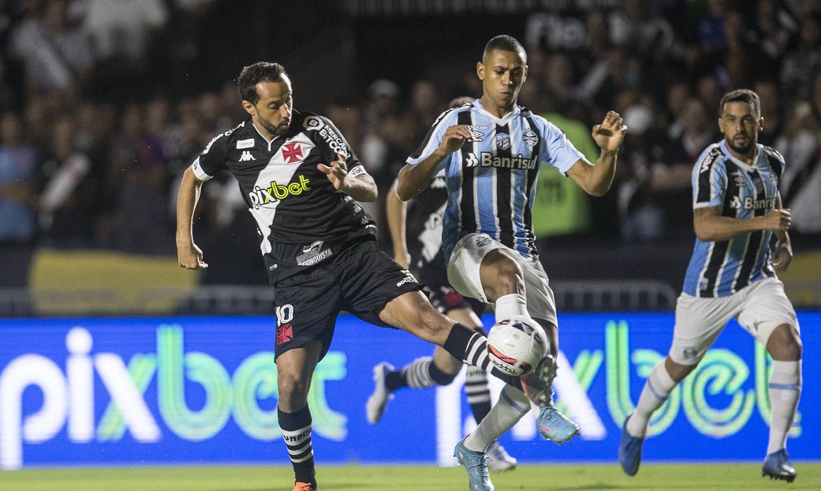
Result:
<svg viewBox="0 0 821 491"><path fill-rule="evenodd" d="M447 264L447 281L463 296L489 304L479 279L479 265L484 256L494 249L509 250L518 259L522 272L525 273L525 297L530 317L548 320L557 326L556 301L553 290L548 285L548 273L544 272L539 259L526 258L515 250L502 246L488 234L470 233L456 242Z"/></svg>

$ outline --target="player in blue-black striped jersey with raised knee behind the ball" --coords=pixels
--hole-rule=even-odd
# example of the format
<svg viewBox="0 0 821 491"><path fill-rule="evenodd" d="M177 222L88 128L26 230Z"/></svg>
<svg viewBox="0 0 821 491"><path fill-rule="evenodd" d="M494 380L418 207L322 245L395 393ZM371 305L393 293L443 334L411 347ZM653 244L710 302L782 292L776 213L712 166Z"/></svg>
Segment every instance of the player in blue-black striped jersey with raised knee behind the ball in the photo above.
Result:
<svg viewBox="0 0 821 491"><path fill-rule="evenodd" d="M530 217L539 166L553 165L585 192L603 195L612 183L626 127L612 111L593 127L601 154L591 164L556 126L516 105L527 76L527 55L516 39L490 39L476 73L482 80L482 98L443 112L433 123L399 172L397 194L409 200L438 172L445 172L443 252L448 281L464 296L495 304L497 323L520 319L544 328L550 352L533 374L555 374L556 307L539 263ZM548 389L537 398L539 433L564 443L579 427L553 406L552 395ZM504 388L477 429L456 443L454 456L468 470L470 489L493 489L485 450L527 411L528 398Z"/></svg>

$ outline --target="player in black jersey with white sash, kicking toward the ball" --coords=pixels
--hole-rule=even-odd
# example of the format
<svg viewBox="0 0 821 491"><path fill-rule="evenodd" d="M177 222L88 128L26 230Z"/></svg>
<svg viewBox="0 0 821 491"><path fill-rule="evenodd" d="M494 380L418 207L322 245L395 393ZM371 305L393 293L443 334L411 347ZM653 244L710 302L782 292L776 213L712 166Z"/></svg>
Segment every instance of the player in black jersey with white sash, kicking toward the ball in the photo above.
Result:
<svg viewBox="0 0 821 491"><path fill-rule="evenodd" d="M211 140L183 175L177 196L177 256L207 268L193 216L204 181L226 169L259 232L277 304L277 411L295 490L316 489L308 391L328 352L337 315L400 328L433 342L539 400L548 377L519 379L488 359L482 333L433 309L420 283L378 249L374 220L356 201L374 201L374 179L333 122L293 108L291 80L277 63L243 68L237 79L250 118Z"/></svg>

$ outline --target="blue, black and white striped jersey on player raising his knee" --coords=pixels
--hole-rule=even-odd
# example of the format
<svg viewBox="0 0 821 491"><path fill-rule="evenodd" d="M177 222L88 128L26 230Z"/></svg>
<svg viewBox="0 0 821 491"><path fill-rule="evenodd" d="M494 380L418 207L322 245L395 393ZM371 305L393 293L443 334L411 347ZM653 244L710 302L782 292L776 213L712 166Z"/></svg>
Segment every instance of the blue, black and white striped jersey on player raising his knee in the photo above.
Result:
<svg viewBox="0 0 821 491"><path fill-rule="evenodd" d="M501 119L479 99L438 117L407 163L428 158L449 126L469 125L472 141L444 158L435 173L445 172L447 207L442 243L445 260L461 237L486 233L526 257L537 257L530 209L542 163L566 174L582 154L552 123L521 106Z"/></svg>

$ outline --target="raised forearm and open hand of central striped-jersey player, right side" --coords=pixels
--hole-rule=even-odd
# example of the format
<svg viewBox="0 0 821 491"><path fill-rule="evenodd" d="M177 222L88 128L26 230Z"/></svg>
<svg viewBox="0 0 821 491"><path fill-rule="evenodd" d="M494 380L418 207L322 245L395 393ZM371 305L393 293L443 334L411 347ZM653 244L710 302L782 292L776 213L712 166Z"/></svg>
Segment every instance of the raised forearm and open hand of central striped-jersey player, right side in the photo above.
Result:
<svg viewBox="0 0 821 491"><path fill-rule="evenodd" d="M618 112L608 112L602 124L593 126L591 133L596 145L601 149L595 165L589 163L586 158L580 158L567 171L567 176L589 195L603 196L612 185L613 176L616 174L618 149L627 131L627 126L622 123Z"/></svg>

